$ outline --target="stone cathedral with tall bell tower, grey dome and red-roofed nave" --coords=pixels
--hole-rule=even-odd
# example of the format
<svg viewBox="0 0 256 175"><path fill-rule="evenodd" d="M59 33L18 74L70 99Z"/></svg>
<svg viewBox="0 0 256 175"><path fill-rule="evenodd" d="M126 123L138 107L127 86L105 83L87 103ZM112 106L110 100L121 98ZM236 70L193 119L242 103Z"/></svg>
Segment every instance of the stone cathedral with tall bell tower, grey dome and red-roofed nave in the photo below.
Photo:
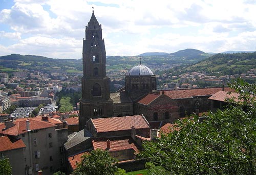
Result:
<svg viewBox="0 0 256 175"><path fill-rule="evenodd" d="M143 114L149 122L174 122L190 114L208 111L208 98L224 90L222 87L158 91L155 74L140 62L125 74L125 87L110 93L102 28L94 11L83 39L82 64L79 130L86 127L90 118Z"/></svg>

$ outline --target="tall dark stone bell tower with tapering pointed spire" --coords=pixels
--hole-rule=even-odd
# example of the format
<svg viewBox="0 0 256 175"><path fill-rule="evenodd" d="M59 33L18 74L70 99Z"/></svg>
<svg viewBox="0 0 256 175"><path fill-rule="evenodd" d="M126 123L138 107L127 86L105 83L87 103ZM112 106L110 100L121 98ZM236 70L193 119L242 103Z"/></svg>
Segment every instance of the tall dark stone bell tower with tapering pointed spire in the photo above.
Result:
<svg viewBox="0 0 256 175"><path fill-rule="evenodd" d="M90 118L113 116L110 98L110 80L106 77L106 51L102 39L101 24L94 11L86 27L86 39L82 47L82 97L80 99L79 130Z"/></svg>

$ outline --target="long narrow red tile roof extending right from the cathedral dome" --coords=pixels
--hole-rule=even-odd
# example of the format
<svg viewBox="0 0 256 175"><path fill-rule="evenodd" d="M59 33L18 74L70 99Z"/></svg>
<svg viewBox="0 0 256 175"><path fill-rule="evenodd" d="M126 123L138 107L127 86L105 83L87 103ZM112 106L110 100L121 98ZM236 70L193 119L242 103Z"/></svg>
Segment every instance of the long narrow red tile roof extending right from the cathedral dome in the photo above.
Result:
<svg viewBox="0 0 256 175"><path fill-rule="evenodd" d="M179 89L163 91L165 95L172 99L192 98L193 96L213 95L222 88L202 88L202 89ZM230 88L225 87L225 91L231 91Z"/></svg>

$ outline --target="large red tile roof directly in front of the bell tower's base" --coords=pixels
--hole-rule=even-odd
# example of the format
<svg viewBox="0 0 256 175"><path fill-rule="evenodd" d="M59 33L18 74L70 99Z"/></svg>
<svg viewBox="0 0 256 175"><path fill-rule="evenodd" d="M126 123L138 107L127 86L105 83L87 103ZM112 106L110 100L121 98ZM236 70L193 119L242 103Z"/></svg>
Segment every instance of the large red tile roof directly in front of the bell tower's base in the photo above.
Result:
<svg viewBox="0 0 256 175"><path fill-rule="evenodd" d="M132 126L136 129L150 128L150 124L142 114L125 117L94 118L91 120L98 133L131 130Z"/></svg>

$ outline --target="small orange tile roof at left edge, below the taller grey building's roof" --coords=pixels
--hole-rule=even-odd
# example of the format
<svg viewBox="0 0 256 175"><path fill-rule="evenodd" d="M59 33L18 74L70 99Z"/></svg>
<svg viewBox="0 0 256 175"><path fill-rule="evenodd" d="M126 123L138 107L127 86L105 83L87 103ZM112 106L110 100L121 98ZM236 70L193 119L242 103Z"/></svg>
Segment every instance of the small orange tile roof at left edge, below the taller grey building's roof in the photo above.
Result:
<svg viewBox="0 0 256 175"><path fill-rule="evenodd" d="M0 137L0 152L26 147L22 139L11 140L8 136Z"/></svg>

